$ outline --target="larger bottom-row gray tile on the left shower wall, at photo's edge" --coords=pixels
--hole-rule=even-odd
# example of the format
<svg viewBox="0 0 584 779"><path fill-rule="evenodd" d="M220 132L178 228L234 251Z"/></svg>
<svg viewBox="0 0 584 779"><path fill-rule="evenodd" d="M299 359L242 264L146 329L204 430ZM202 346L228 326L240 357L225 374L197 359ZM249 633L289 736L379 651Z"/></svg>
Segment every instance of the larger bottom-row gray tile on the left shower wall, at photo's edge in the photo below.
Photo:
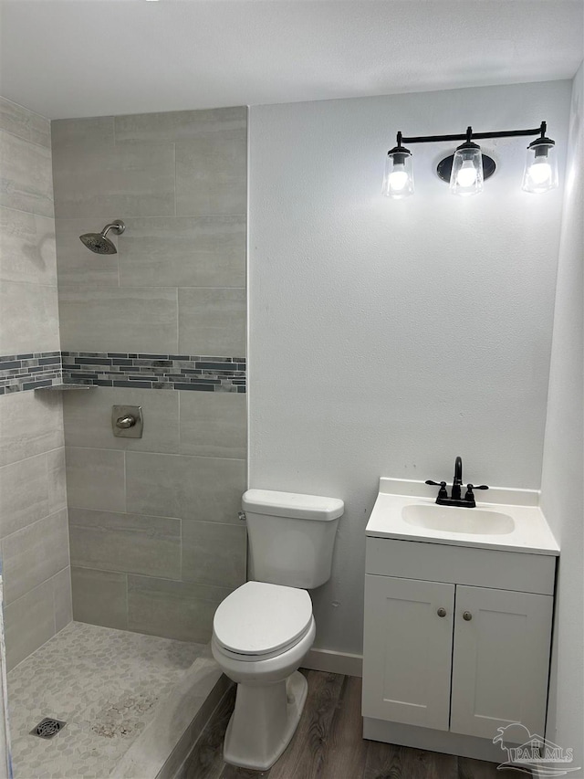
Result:
<svg viewBox="0 0 584 779"><path fill-rule="evenodd" d="M4 626L6 668L10 670L55 635L52 584L41 584L5 605Z"/></svg>

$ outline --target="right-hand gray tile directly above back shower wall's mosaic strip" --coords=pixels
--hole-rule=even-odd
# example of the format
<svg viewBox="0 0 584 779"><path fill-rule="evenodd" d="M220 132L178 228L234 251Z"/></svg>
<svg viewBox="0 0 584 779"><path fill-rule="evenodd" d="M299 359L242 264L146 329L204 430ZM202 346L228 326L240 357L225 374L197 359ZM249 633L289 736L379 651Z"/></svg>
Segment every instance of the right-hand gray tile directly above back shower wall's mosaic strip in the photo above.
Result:
<svg viewBox="0 0 584 779"><path fill-rule="evenodd" d="M179 289L179 351L245 354L245 289Z"/></svg>

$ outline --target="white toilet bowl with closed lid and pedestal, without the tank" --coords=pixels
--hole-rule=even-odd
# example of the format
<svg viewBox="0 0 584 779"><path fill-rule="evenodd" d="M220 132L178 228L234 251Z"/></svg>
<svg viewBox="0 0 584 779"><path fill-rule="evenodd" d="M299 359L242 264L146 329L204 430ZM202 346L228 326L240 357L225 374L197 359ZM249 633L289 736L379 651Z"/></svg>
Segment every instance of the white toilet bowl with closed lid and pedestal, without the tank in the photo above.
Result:
<svg viewBox="0 0 584 779"><path fill-rule="evenodd" d="M214 616L211 648L238 685L224 740L224 760L264 771L294 735L307 696L297 671L316 634L306 590L247 582Z"/></svg>

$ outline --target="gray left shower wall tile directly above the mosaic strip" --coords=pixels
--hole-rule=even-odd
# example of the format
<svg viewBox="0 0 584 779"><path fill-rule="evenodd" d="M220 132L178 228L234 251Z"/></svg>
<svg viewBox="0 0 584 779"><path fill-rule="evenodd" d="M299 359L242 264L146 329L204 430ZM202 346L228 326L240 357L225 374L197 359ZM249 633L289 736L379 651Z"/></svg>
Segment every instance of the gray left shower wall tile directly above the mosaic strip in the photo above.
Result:
<svg viewBox="0 0 584 779"><path fill-rule="evenodd" d="M0 354L56 352L57 287L0 282Z"/></svg>

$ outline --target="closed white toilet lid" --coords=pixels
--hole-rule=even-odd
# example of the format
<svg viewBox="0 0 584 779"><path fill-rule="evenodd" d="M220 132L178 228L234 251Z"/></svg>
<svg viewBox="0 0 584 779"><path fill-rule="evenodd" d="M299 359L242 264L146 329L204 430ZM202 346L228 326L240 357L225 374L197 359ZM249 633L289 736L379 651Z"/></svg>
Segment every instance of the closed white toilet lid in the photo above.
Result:
<svg viewBox="0 0 584 779"><path fill-rule="evenodd" d="M265 655L286 647L306 632L312 602L306 590L247 582L215 611L218 642L240 655Z"/></svg>

